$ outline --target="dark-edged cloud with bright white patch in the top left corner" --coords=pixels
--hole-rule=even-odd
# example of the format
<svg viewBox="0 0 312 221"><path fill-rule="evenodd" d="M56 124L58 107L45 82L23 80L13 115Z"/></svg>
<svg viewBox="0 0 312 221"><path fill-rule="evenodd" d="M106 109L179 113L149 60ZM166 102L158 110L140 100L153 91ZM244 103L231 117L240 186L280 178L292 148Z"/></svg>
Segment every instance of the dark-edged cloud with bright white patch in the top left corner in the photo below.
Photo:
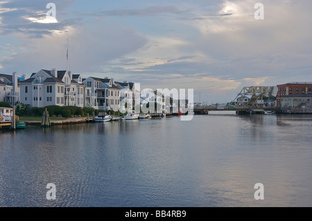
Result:
<svg viewBox="0 0 312 221"><path fill-rule="evenodd" d="M50 1L14 0L0 3L1 35L22 33L28 37L42 37L54 30L64 30L75 24L75 19L62 19L64 12L74 0L55 0L56 18L46 17ZM62 22L58 22L58 20Z"/></svg>

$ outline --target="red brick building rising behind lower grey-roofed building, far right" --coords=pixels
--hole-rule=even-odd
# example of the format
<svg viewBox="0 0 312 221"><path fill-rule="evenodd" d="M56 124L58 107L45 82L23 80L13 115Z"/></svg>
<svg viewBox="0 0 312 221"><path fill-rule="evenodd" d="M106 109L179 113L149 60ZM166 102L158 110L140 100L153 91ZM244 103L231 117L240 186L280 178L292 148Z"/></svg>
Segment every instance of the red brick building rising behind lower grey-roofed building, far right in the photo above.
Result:
<svg viewBox="0 0 312 221"><path fill-rule="evenodd" d="M284 85L277 85L276 96L277 107L282 107L281 97L294 94L312 94L312 82L289 82Z"/></svg>

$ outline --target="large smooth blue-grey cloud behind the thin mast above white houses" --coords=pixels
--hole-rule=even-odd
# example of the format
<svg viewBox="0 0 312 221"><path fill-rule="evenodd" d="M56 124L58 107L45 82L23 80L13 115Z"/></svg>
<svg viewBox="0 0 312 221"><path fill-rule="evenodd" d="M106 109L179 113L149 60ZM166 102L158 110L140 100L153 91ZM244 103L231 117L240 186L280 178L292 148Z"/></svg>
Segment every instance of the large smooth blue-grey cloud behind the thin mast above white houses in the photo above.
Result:
<svg viewBox="0 0 312 221"><path fill-rule="evenodd" d="M134 28L114 21L103 22L101 27L68 26L40 38L26 38L23 42L28 50L13 55L12 60L2 64L11 71L26 74L39 69L67 69L69 39L69 69L90 75L92 71L101 71L105 62L121 58L146 44L146 39Z"/></svg>

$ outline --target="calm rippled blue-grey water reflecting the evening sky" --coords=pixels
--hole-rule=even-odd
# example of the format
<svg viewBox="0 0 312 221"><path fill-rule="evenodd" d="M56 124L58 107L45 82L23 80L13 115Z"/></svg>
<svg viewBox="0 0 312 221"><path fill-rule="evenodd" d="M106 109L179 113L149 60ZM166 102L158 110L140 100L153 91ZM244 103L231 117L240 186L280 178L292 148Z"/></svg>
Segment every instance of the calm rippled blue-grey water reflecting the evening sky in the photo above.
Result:
<svg viewBox="0 0 312 221"><path fill-rule="evenodd" d="M1 132L0 206L312 206L311 130L211 114Z"/></svg>

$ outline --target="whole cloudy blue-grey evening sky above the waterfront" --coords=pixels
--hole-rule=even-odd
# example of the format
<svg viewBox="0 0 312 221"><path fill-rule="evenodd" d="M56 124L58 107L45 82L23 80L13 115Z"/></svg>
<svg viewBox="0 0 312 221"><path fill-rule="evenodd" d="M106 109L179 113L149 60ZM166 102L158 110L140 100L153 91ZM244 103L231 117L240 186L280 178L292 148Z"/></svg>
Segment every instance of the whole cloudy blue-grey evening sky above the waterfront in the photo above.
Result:
<svg viewBox="0 0 312 221"><path fill-rule="evenodd" d="M0 73L69 68L230 102L243 87L312 81L311 8L311 0L0 0Z"/></svg>

